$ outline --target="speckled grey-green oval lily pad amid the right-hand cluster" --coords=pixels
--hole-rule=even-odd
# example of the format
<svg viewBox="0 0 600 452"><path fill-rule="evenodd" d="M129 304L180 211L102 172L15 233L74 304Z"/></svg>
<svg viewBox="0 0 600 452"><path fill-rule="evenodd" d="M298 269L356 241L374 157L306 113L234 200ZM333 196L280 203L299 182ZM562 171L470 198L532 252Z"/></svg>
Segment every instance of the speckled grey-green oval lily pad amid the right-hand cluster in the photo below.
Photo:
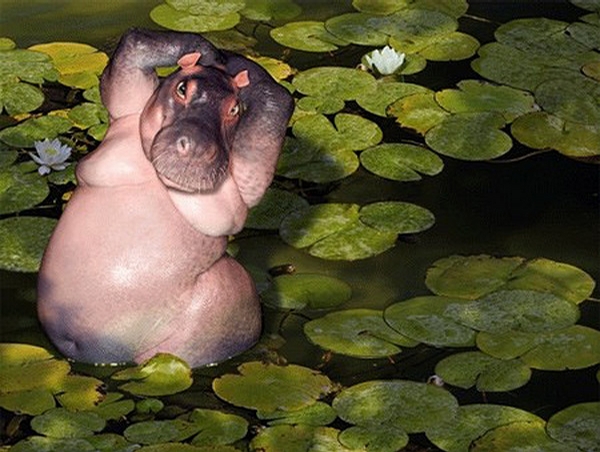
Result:
<svg viewBox="0 0 600 452"><path fill-rule="evenodd" d="M478 331L534 333L573 325L579 309L549 293L500 290L468 304L450 304L445 315Z"/></svg>

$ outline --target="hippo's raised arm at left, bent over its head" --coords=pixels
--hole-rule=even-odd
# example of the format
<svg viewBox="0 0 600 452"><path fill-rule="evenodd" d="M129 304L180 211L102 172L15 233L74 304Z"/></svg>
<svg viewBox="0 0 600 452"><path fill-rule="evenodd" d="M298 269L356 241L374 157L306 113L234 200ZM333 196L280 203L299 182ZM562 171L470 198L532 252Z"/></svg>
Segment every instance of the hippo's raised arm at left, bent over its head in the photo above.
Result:
<svg viewBox="0 0 600 452"><path fill-rule="evenodd" d="M201 64L223 64L221 52L193 33L132 29L125 33L102 74L102 101L112 119L141 113L158 86L156 67L174 66L199 52Z"/></svg>

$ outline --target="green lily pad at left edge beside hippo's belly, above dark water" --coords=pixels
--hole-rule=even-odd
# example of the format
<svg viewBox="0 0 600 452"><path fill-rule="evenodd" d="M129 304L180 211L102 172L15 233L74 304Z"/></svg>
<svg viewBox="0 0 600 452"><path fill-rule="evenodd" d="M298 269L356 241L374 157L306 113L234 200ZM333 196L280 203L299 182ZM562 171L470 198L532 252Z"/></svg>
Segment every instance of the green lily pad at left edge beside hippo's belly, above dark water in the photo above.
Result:
<svg viewBox="0 0 600 452"><path fill-rule="evenodd" d="M43 217L13 217L0 221L0 268L36 272L57 221Z"/></svg>

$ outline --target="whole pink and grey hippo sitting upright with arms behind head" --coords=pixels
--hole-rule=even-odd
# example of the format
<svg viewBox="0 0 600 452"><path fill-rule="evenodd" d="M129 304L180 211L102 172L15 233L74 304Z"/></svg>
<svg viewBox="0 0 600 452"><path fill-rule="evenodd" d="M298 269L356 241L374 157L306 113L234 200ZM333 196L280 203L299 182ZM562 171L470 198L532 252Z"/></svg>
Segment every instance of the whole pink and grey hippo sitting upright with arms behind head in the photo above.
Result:
<svg viewBox="0 0 600 452"><path fill-rule="evenodd" d="M178 61L159 84L154 68ZM260 306L227 235L272 180L291 97L200 36L143 30L121 39L101 92L108 132L77 166L40 269L44 329L94 363L168 352L200 366L247 349Z"/></svg>

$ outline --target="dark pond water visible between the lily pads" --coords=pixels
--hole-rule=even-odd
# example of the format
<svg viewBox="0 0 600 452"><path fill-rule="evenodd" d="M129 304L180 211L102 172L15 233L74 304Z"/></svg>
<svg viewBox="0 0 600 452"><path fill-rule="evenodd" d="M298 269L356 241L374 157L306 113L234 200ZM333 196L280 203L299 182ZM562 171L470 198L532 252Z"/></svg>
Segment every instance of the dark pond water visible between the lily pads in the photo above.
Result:
<svg viewBox="0 0 600 452"><path fill-rule="evenodd" d="M39 1L26 5L18 0L0 0L0 27L20 48L52 41L83 42L110 54L122 32L131 26L156 28L149 11L162 2L128 0L121 2ZM323 20L353 11L350 1L300 1L303 13L294 20ZM519 17L547 17L571 22L582 10L567 1L469 1L460 30L477 37L481 44L494 39L502 23ZM281 46L257 29L255 49L262 55L280 58ZM287 63L305 70L339 65L354 67L366 48L348 46L334 53L292 50ZM370 50L370 48L369 48ZM427 68L405 81L433 90L453 88L460 80L481 79L469 61L429 62ZM352 110L354 107L350 107ZM357 111L355 109L354 111ZM394 118L378 122L385 142L419 140L418 135L400 128ZM421 139L422 142L422 139ZM533 150L515 140L513 150L498 160L509 160ZM287 245L275 232L244 231L237 238L242 263L262 269L291 263L296 271L337 277L352 288L352 298L343 308L384 309L412 297L429 295L425 286L427 269L438 259L451 255L543 257L576 266L596 281L600 276L598 242L599 172L594 164L546 152L518 161L469 162L443 157L444 169L435 177L418 182L397 182L377 177L364 168L341 181L304 185L311 203L344 202L360 205L377 201L405 201L434 213L435 225L424 232L401 236L383 254L358 261L330 261L310 256ZM0 341L25 342L50 347L35 319L35 274L0 272ZM592 297L600 298L596 288ZM578 323L600 328L599 304L580 305ZM355 359L339 354L324 360L325 352L310 344L302 327L320 311L281 313L265 308L265 331L280 334L285 343L277 350L290 363L319 368L344 386L367 380L402 378L424 382L434 367L453 351L418 346L405 349L392 359ZM244 361L238 357L210 369L198 369L198 381L230 372ZM105 375L106 369L75 365L76 370ZM545 419L580 402L598 400L597 366L574 371L536 371L527 385L509 392L480 393L453 388L466 403L499 403L523 408ZM205 391L198 388L199 392ZM201 396L201 395L200 395ZM194 397L194 393L182 395ZM176 400L181 402L181 400ZM183 403L183 402L181 402ZM214 402L211 402L214 403ZM193 405L185 402L184 404ZM417 439L435 450L424 439Z"/></svg>

